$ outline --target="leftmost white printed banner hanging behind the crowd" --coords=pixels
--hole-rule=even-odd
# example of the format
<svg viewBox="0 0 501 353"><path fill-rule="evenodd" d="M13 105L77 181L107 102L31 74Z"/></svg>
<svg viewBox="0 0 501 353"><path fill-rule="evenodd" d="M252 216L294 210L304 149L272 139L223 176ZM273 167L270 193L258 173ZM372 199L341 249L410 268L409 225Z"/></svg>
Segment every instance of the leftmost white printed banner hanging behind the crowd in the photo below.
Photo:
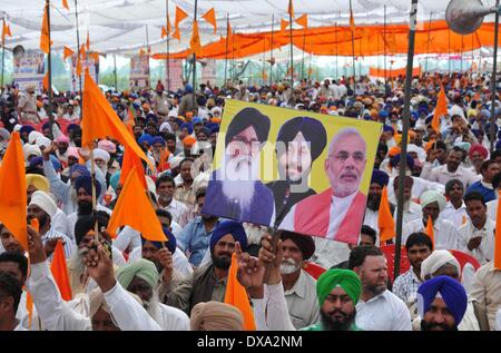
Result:
<svg viewBox="0 0 501 353"><path fill-rule="evenodd" d="M13 81L20 90L28 86L35 86L42 90L43 76L46 73L45 55L41 50L26 50L20 58L13 58Z"/></svg>

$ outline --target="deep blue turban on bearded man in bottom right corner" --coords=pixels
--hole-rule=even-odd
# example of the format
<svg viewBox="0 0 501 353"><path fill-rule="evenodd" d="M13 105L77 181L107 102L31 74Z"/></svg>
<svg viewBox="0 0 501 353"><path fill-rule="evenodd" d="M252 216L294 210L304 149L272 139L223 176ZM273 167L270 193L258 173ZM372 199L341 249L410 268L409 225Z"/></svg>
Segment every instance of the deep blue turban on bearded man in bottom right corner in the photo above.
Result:
<svg viewBox="0 0 501 353"><path fill-rule="evenodd" d="M455 325L458 326L466 312L468 296L462 284L449 276L438 276L420 285L418 290L418 311L421 318L430 310L439 293L448 310L454 316Z"/></svg>

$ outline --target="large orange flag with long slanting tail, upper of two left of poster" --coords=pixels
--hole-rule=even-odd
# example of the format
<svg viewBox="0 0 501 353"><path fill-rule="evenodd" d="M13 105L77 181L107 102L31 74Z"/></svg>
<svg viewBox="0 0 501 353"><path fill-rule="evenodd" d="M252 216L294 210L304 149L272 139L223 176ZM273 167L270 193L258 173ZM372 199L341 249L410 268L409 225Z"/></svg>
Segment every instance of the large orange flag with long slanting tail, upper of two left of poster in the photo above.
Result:
<svg viewBox="0 0 501 353"><path fill-rule="evenodd" d="M129 147L139 156L139 158L145 160L151 169L155 169L155 166L146 157L143 149L136 143L134 137L130 136L124 122L120 121L115 110L106 100L106 97L90 77L89 71L86 70L85 75L81 145L91 147L94 146L95 139L109 136L118 140L124 147Z"/></svg>

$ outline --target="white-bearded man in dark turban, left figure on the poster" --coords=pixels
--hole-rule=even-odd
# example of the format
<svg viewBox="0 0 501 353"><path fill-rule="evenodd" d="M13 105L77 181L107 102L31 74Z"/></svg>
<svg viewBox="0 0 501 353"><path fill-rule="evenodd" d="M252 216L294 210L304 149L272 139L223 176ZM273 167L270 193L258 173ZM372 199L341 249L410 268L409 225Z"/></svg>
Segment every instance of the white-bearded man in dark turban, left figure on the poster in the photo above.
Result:
<svg viewBox="0 0 501 353"><path fill-rule="evenodd" d="M222 167L213 173L207 188L204 214L273 224L273 193L259 180L261 150L268 133L269 118L255 108L245 108L233 118Z"/></svg>

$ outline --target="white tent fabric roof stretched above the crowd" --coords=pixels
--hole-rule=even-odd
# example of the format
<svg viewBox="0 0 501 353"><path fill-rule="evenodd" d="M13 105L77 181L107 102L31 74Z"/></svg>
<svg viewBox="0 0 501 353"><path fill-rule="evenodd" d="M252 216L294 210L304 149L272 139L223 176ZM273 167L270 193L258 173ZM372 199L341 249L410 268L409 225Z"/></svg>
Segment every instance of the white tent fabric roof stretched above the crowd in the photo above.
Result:
<svg viewBox="0 0 501 353"><path fill-rule="evenodd" d="M62 8L62 0L51 0L51 36L53 49L63 46L76 49L75 0L68 0L70 10ZM40 28L43 16L41 0L0 0L0 16L10 24L13 37L7 38L9 48L22 45L27 49L39 48ZM161 26L166 23L166 0L77 0L80 45L86 41L89 31L91 50L102 53L135 55L148 42L153 52L166 51L166 40L160 39ZM350 22L348 0L293 0L296 18L308 14L310 27L347 26ZM419 21L444 18L449 0L420 0ZM483 0L484 6L494 6L495 0ZM170 51L178 52L189 46L195 0L168 1L170 22L174 26L176 6L189 13L189 18L179 26L181 40L170 40ZM288 0L199 0L198 19L214 7L217 19L217 33L213 27L199 20L203 45L218 41L226 35L226 14L232 28L238 33L269 31L272 16L275 30L279 30L279 20L288 20ZM353 0L355 23L382 24L384 6L387 23L409 21L411 0ZM2 13L3 11L3 13ZM487 18L487 21L492 17Z"/></svg>

